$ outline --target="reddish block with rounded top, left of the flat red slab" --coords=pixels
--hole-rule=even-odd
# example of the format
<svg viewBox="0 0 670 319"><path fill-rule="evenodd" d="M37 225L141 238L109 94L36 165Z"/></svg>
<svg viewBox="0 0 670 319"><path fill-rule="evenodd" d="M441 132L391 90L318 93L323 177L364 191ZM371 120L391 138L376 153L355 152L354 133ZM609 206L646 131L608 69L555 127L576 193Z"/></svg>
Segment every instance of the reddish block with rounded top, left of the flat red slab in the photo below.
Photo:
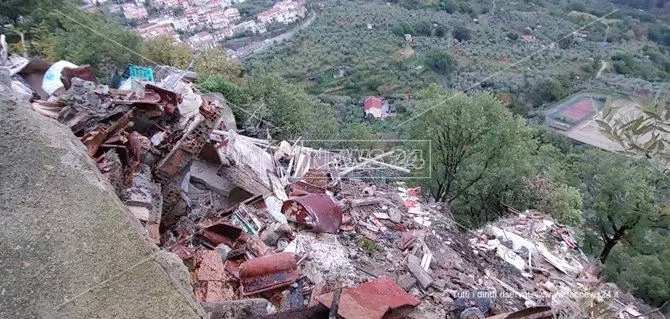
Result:
<svg viewBox="0 0 670 319"><path fill-rule="evenodd" d="M278 253L246 261L240 265L242 295L248 296L288 286L300 278L296 255Z"/></svg>

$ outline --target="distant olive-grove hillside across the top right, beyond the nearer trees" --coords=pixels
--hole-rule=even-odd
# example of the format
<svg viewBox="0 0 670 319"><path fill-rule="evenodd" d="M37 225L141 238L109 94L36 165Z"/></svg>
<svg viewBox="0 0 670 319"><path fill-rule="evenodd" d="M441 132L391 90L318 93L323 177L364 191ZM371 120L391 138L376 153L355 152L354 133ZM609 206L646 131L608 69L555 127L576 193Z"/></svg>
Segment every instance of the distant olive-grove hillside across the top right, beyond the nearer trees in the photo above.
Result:
<svg viewBox="0 0 670 319"><path fill-rule="evenodd" d="M587 87L631 93L666 87L670 52L662 41L647 41L668 34L665 16L600 1L491 6L459 0L327 1L317 8L312 27L259 60L317 95L390 97L441 83L504 95L522 115ZM523 36L534 40L527 43ZM431 67L436 51L451 57L453 72ZM515 64L519 60L523 63ZM601 60L608 76L596 78Z"/></svg>

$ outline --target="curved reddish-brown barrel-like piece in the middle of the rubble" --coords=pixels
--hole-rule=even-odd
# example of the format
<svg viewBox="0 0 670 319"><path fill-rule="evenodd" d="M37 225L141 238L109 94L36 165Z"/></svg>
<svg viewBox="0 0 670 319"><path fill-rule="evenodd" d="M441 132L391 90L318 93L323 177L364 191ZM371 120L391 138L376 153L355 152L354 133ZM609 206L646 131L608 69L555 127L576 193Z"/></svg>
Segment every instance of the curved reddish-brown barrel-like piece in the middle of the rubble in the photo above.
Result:
<svg viewBox="0 0 670 319"><path fill-rule="evenodd" d="M328 195L309 194L284 202L282 213L292 222L307 225L312 231L337 234L342 211Z"/></svg>

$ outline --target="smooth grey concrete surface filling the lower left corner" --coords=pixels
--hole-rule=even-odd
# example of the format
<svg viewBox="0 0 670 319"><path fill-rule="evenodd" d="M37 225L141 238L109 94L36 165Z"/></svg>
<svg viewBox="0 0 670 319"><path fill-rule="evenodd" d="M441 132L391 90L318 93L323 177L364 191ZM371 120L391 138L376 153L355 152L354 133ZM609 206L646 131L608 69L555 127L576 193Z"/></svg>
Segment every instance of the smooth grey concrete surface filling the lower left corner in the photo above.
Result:
<svg viewBox="0 0 670 319"><path fill-rule="evenodd" d="M167 257L67 128L0 97L0 318L200 318Z"/></svg>

